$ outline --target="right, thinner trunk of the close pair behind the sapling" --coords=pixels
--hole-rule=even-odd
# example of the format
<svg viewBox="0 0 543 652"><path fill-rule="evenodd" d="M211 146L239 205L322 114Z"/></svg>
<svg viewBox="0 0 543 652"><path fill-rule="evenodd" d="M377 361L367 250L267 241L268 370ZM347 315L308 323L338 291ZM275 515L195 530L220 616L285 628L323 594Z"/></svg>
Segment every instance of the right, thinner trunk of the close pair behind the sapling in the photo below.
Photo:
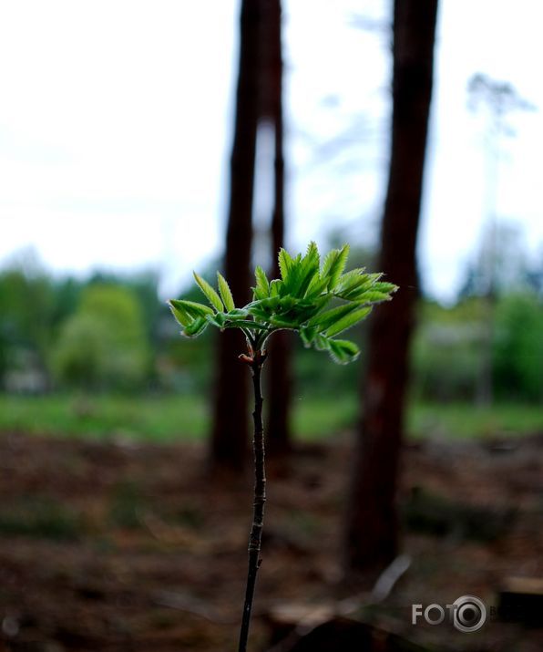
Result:
<svg viewBox="0 0 543 652"><path fill-rule="evenodd" d="M273 129L273 214L271 216L272 277L280 276L277 254L284 246L284 155L282 123L282 11L281 0L262 0L261 119ZM268 359L267 450L282 455L291 447L291 334L280 331L271 338Z"/></svg>

